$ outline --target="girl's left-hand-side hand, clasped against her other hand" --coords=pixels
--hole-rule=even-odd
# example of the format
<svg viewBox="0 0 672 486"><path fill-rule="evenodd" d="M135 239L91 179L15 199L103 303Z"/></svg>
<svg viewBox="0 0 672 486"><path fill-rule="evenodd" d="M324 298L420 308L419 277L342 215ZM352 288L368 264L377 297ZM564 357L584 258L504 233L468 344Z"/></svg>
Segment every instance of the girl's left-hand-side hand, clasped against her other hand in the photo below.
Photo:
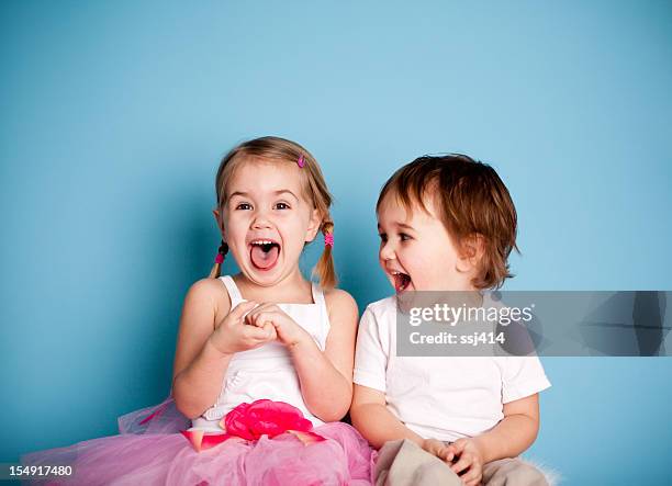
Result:
<svg viewBox="0 0 672 486"><path fill-rule="evenodd" d="M255 302L242 302L236 305L210 336L210 342L223 355L258 348L278 338L276 328L271 324L260 327L245 324L245 313L251 310L256 305Z"/></svg>

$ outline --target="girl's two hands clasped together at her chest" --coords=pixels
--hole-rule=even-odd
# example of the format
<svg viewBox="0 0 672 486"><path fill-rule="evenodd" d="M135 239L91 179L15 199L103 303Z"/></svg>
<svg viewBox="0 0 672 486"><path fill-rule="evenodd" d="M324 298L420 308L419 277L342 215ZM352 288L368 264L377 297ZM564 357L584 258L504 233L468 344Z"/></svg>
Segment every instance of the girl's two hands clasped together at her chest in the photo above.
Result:
<svg viewBox="0 0 672 486"><path fill-rule="evenodd" d="M234 354L278 340L292 348L310 337L276 304L243 302L213 331L210 340L222 354Z"/></svg>

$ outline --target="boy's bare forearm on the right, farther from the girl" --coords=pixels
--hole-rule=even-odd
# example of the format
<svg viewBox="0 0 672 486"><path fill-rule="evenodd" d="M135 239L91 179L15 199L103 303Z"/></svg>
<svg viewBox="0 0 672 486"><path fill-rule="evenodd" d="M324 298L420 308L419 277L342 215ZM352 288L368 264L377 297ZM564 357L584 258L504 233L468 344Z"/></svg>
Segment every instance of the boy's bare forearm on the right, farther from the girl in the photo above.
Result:
<svg viewBox="0 0 672 486"><path fill-rule="evenodd" d="M539 431L539 394L504 404L504 418L485 433L473 438L483 463L515 457L529 448Z"/></svg>

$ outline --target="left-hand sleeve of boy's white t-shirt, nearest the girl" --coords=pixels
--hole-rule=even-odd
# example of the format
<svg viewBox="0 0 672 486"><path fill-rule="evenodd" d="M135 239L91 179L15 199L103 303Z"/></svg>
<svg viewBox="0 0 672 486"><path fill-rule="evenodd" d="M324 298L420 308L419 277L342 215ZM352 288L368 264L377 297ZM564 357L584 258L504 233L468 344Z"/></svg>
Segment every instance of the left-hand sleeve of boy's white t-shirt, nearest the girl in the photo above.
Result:
<svg viewBox="0 0 672 486"><path fill-rule="evenodd" d="M357 331L355 373L352 381L380 392L385 391L388 354L381 339L381 328L370 307L367 307Z"/></svg>

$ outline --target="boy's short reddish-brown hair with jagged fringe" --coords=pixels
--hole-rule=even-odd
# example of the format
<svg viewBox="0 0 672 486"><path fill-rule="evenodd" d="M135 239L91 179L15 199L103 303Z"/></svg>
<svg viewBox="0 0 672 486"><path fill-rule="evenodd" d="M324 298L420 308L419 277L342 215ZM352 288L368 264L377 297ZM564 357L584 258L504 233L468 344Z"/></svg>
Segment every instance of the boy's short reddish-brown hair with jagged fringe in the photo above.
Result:
<svg viewBox="0 0 672 486"><path fill-rule="evenodd" d="M480 235L483 257L472 285L497 289L512 278L508 256L516 245L517 215L508 190L495 170L461 154L418 157L399 169L383 185L376 211L388 194L395 194L406 211L418 203L427 211L434 197L441 223L457 242Z"/></svg>

